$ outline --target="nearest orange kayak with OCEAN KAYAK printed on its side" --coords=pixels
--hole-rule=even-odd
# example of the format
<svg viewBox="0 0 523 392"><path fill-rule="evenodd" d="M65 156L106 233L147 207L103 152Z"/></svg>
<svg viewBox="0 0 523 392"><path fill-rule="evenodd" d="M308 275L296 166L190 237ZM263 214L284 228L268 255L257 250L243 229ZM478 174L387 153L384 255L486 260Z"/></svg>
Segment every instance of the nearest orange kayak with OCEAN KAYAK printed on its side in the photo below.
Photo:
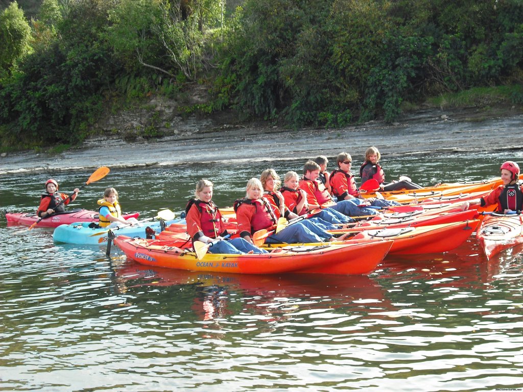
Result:
<svg viewBox="0 0 523 392"><path fill-rule="evenodd" d="M392 246L389 240L363 243L285 246L280 252L252 255L207 253L201 260L176 241L118 236L115 244L129 259L149 266L191 271L245 274L333 273L366 274L374 270Z"/></svg>

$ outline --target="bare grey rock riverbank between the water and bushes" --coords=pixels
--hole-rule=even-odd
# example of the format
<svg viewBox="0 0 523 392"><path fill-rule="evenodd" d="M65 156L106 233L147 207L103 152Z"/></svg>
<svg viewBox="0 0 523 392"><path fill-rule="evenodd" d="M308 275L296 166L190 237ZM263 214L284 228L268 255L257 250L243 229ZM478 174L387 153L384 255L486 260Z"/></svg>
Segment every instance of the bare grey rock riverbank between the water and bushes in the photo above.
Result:
<svg viewBox="0 0 523 392"><path fill-rule="evenodd" d="M288 130L264 123L213 124L186 129L162 139L125 141L122 134L100 135L59 154L21 152L0 157L0 175L87 170L99 166L133 168L249 160L285 160L346 151L361 156L377 145L383 157L410 154L523 151L523 113L520 108L485 110L427 109L403 116L393 124L370 121L342 129Z"/></svg>

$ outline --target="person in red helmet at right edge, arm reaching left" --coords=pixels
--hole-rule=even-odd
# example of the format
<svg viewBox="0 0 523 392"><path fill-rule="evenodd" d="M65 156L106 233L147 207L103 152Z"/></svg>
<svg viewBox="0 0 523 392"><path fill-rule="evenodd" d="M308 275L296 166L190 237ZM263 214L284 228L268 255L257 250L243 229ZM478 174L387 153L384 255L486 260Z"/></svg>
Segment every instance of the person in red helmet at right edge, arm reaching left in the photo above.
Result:
<svg viewBox="0 0 523 392"><path fill-rule="evenodd" d="M503 185L493 189L490 193L480 199L465 201L461 204L461 210L468 210L470 206L480 204L497 204L496 211L499 213L520 212L523 210L523 185L518 183L519 166L517 163L507 160L501 165L501 180Z"/></svg>

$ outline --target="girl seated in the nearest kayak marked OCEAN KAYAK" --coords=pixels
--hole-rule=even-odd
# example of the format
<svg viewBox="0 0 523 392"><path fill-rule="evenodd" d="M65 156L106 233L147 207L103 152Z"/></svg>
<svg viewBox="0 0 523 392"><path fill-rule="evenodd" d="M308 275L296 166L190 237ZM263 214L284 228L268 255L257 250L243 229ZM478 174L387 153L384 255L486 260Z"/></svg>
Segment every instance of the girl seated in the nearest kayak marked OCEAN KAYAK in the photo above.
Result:
<svg viewBox="0 0 523 392"><path fill-rule="evenodd" d="M226 253L230 255L245 255L245 253L266 253L243 238L224 240L227 231L224 227L222 214L212 201L213 184L207 179L201 179L196 185L195 198L189 200L185 208L187 233L192 241L204 244L217 243L209 247L210 253Z"/></svg>

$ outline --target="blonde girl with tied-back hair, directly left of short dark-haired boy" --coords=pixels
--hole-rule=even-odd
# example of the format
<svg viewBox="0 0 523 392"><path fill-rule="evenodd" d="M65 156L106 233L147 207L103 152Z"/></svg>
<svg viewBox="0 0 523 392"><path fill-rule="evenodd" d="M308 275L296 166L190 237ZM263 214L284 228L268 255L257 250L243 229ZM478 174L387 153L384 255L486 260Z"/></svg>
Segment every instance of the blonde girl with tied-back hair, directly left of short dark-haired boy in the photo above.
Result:
<svg viewBox="0 0 523 392"><path fill-rule="evenodd" d="M295 171L288 171L285 175L285 178L283 178L283 187L280 188L280 192L283 195L283 200L285 201L286 207L290 211L298 215L308 215L311 213L311 211L309 209L307 193L298 187L299 182L300 177L298 176L298 173ZM319 223L316 220L316 218L319 218L319 220L330 223L331 225L329 225L329 227L339 228L340 224L347 224L354 221L353 218L350 218L347 215L344 215L328 207L323 210L313 210L312 213L314 216L310 219L314 223Z"/></svg>

